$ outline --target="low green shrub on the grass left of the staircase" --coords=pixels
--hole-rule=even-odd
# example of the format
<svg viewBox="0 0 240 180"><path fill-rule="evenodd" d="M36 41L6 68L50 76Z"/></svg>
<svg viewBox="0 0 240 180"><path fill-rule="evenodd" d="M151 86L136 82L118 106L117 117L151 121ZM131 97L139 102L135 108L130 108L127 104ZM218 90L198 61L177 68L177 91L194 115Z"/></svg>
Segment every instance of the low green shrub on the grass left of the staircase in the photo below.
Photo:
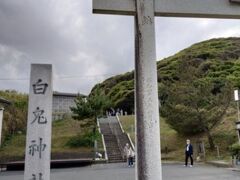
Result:
<svg viewBox="0 0 240 180"><path fill-rule="evenodd" d="M98 132L87 132L85 134L78 134L68 140L66 146L76 148L76 147L93 147L94 141L100 138Z"/></svg>

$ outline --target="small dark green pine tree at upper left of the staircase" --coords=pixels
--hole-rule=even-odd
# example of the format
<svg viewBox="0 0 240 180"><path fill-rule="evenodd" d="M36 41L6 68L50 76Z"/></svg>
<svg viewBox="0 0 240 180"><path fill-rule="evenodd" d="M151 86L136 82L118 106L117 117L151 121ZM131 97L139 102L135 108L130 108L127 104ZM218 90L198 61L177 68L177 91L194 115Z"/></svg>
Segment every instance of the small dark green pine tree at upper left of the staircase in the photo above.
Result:
<svg viewBox="0 0 240 180"><path fill-rule="evenodd" d="M88 121L87 126L93 125L95 132L97 118L104 114L104 111L111 107L111 102L107 96L98 88L94 94L89 97L78 96L75 100L75 107L71 107L73 119L86 121L87 118L94 118L94 121Z"/></svg>

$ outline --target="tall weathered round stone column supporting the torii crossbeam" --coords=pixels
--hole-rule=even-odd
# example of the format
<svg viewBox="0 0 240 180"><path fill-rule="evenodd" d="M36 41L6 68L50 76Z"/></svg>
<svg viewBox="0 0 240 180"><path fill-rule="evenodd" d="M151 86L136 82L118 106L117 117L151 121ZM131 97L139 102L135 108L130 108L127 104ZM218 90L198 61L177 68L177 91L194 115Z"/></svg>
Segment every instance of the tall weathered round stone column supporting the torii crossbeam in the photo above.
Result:
<svg viewBox="0 0 240 180"><path fill-rule="evenodd" d="M162 180L154 0L136 0L136 9L136 178Z"/></svg>

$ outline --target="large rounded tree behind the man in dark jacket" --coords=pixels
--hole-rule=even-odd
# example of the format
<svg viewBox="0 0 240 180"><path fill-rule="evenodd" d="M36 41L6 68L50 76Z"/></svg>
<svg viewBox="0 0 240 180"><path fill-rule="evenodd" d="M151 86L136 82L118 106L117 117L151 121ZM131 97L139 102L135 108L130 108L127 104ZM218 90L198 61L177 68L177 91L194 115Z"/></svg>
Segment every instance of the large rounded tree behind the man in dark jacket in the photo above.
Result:
<svg viewBox="0 0 240 180"><path fill-rule="evenodd" d="M187 74L190 73L191 77ZM231 101L231 87L216 84L209 79L197 79L194 69L164 92L161 115L173 129L183 135L205 133L210 148L215 147L211 130L221 122ZM164 88L162 88L164 89ZM161 96L160 96L161 97Z"/></svg>

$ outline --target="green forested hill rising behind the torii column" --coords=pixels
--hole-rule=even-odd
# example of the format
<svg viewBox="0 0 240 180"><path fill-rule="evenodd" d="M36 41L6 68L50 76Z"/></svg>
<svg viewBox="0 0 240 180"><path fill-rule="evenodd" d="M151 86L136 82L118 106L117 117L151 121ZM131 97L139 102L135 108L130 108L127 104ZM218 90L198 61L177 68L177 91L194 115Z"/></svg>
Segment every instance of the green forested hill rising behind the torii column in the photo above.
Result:
<svg viewBox="0 0 240 180"><path fill-rule="evenodd" d="M233 87L240 88L240 38L211 39L192 45L174 56L157 62L159 97L162 87L168 87L183 76L191 76L188 69L194 68L194 79L210 79L215 91L229 80ZM179 73L184 71L184 73ZM134 72L111 77L97 84L112 100L115 108L128 113L134 111Z"/></svg>

